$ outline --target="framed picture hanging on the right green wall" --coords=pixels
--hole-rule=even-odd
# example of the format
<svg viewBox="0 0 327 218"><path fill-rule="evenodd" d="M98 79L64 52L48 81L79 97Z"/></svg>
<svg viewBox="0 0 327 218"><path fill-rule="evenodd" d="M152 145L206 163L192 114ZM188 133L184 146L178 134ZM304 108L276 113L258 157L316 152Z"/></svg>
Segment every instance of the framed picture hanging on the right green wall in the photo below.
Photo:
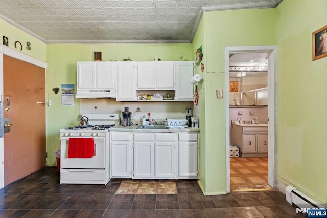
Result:
<svg viewBox="0 0 327 218"><path fill-rule="evenodd" d="M312 33L312 60L327 56L327 26Z"/></svg>

